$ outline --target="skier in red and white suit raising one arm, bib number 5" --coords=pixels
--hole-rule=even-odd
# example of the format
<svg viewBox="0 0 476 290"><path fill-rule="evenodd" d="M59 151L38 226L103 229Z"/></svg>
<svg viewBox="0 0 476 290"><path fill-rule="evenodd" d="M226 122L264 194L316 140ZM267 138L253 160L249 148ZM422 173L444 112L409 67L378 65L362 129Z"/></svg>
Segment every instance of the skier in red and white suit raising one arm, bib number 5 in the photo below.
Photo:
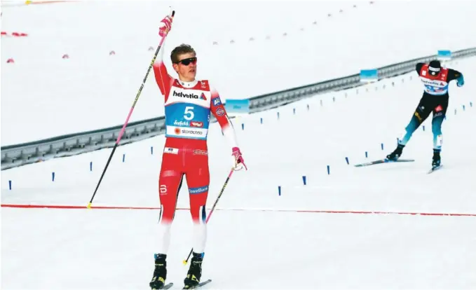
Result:
<svg viewBox="0 0 476 290"><path fill-rule="evenodd" d="M159 34L165 36L170 31L172 19L162 20ZM189 187L190 212L193 220L193 257L187 277L186 287L200 281L201 262L206 242L205 204L210 184L208 168L207 134L210 112L217 118L222 132L229 140L234 157L234 166L245 167L243 157L236 142L233 129L217 90L208 81L196 80L195 50L182 44L170 55L172 66L179 78L172 78L163 64L163 47L154 63L154 74L162 95L165 96L165 148L161 173L158 180L161 216L159 227L161 244L158 247L154 277L150 283L158 289L165 283L165 258L170 244L170 225L175 215L177 195L183 177Z"/></svg>

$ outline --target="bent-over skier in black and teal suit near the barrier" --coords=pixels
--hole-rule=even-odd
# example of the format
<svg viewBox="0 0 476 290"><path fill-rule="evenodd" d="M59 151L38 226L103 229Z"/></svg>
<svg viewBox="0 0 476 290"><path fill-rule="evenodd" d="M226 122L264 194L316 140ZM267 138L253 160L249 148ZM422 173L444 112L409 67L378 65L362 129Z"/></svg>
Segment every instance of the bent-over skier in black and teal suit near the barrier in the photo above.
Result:
<svg viewBox="0 0 476 290"><path fill-rule="evenodd" d="M402 155L402 150L412 137L413 132L423 123L430 113L433 112L431 128L433 132L433 162L432 167L439 167L441 163L440 151L442 150L443 134L441 126L447 112L449 94L448 85L450 81L456 80L458 87L464 85L464 78L461 72L454 69L441 67L439 60L433 60L430 64L419 62L416 64L416 71L419 74L425 90L418 106L407 127L404 135L398 140L397 149L386 156L387 160L396 161Z"/></svg>

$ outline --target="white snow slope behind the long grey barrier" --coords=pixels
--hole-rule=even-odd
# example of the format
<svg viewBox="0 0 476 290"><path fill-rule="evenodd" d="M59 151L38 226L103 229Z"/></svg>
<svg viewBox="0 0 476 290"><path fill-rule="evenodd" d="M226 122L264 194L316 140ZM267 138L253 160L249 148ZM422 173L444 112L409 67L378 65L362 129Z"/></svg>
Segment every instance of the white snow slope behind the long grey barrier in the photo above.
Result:
<svg viewBox="0 0 476 290"><path fill-rule="evenodd" d="M170 68L173 47L191 43L200 60L198 78L209 78L223 99L476 46L470 37L473 1L76 1L3 7L2 31L29 36L1 39L1 145L123 125L170 5L177 13L164 48L166 64ZM441 15L437 22L435 15ZM111 50L116 55L109 56ZM6 64L10 57L15 64ZM157 116L163 116L163 97L151 74L130 122Z"/></svg>

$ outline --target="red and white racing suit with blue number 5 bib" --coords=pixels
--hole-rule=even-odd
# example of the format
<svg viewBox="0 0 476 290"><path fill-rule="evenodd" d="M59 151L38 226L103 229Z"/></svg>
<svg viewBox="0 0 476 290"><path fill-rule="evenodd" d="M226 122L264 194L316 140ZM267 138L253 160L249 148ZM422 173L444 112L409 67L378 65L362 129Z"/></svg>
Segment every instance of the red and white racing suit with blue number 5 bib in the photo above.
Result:
<svg viewBox="0 0 476 290"><path fill-rule="evenodd" d="M162 55L162 54L161 54ZM166 254L170 242L170 224L182 180L189 187L190 212L194 224L193 250L203 252L206 240L205 204L210 184L207 135L210 112L217 118L231 146L236 136L217 90L208 81L184 82L172 78L162 56L154 64L154 74L165 96L165 146L158 179L161 201L161 249Z"/></svg>

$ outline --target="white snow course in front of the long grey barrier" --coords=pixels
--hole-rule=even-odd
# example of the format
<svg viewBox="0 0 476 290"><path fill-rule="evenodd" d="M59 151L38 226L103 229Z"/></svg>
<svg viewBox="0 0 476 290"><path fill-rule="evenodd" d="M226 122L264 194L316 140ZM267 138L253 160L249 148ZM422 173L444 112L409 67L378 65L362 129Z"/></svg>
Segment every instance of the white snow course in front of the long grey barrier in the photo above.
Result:
<svg viewBox="0 0 476 290"><path fill-rule="evenodd" d="M233 173L210 219L203 278L213 282L204 289L474 289L476 216L295 211L476 214L475 64L475 57L449 64L466 84L450 85L444 169L429 175L430 120L404 149L402 158L414 163L352 166L394 149L421 96L415 73L233 120L249 170ZM163 142L159 136L118 147L93 206L158 207ZM208 144L210 208L231 166L216 123ZM1 203L86 206L110 152L4 170ZM188 202L185 182L168 253L175 289L191 247ZM1 287L147 289L157 219L154 209L2 207Z"/></svg>

